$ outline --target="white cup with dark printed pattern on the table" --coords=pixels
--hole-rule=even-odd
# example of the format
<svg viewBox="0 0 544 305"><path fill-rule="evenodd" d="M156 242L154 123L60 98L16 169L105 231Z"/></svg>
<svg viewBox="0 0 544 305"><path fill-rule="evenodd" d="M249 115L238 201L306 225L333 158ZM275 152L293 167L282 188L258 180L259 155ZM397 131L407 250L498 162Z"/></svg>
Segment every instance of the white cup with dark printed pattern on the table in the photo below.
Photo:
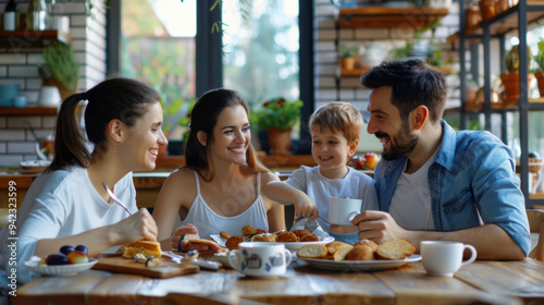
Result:
<svg viewBox="0 0 544 305"><path fill-rule="evenodd" d="M285 274L293 255L280 243L244 242L231 251L228 263L242 273L256 278Z"/></svg>

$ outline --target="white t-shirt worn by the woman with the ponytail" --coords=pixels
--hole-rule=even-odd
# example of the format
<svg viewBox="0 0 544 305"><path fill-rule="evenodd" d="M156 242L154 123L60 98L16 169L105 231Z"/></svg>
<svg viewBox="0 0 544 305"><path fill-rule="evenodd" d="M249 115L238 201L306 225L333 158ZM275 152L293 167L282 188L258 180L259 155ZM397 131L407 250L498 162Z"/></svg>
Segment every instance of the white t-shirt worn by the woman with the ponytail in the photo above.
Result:
<svg viewBox="0 0 544 305"><path fill-rule="evenodd" d="M127 205L132 212L136 206L136 190L132 172L121 179L113 187L115 195ZM17 281L26 283L37 277L23 266L23 261L34 255L39 240L75 235L95 228L113 224L128 217L128 213L113 202L107 203L92 186L87 170L70 167L51 173L44 173L30 185L24 202L18 204L16 215L16 235L9 227L0 231L1 277L11 273L8 245L16 240ZM85 245L85 241L81 244ZM73 245L76 246L76 245ZM13 264L13 261L11 261Z"/></svg>

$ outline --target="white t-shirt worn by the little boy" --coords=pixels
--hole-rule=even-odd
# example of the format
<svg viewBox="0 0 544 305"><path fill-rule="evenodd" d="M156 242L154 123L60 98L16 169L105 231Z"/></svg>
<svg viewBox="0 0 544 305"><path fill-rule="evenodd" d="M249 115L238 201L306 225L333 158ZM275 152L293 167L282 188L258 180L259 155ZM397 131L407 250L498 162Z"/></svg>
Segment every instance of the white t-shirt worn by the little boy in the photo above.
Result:
<svg viewBox="0 0 544 305"><path fill-rule="evenodd" d="M329 179L321 174L318 167L301 166L285 181L288 185L305 192L317 205L319 216L329 221L331 197L362 199L361 211L378 210L378 196L374 180L366 173L348 167L348 173L342 179ZM331 224L316 219L321 228L331 230Z"/></svg>

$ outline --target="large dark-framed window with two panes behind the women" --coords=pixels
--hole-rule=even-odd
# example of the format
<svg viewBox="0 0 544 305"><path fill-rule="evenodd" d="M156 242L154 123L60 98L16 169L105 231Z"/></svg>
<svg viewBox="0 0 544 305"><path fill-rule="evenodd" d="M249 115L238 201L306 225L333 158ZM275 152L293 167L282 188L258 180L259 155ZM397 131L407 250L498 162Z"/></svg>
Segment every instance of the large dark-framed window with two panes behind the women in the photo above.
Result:
<svg viewBox="0 0 544 305"><path fill-rule="evenodd" d="M219 10L211 10L217 0L108 3L108 70L152 84L166 103L224 86L255 105L300 98L302 125L313 111L312 1L223 0ZM218 21L226 25L222 36L212 32ZM304 129L300 138L307 147L299 152L308 154Z"/></svg>

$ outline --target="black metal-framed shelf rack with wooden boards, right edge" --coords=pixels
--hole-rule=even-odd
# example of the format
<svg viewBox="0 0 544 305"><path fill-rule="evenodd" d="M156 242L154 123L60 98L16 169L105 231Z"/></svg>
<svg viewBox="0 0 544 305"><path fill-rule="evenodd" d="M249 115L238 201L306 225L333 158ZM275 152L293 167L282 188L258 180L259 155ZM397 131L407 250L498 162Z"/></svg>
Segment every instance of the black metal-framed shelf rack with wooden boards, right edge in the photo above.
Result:
<svg viewBox="0 0 544 305"><path fill-rule="evenodd" d="M481 0L480 2L490 2L487 0ZM491 1L496 4L500 1ZM480 3L483 4L483 3ZM496 7L497 8L497 7ZM470 8L469 8L470 9ZM481 9L482 10L482 9ZM459 1L459 11L465 11L465 1ZM482 11L483 12L483 11ZM487 12L489 13L489 12ZM530 138L532 134L529 130L530 118L533 114L544 113L544 97L540 98L529 98L528 90L519 90L518 96L515 98L503 99L498 103L493 102L493 91L492 91L492 80L491 80L491 53L497 52L499 54L499 65L500 73L506 74L506 35L516 34L519 38L519 51L518 61L519 69L516 74L519 74L519 80L517 78L518 88L528 88L529 84L529 62L531 58L528 56L527 46L527 33L530 27L539 24L539 21L544 19L544 1L519 1L516 5L510 8L503 8L496 10L493 14L482 14L482 20L475 24L470 25L470 22L466 20L468 14L459 14L460 28L459 32L449 37L450 41L458 42L459 46L459 63L460 63L460 94L461 94L461 107L460 112L460 127L466 129L467 115L472 118L473 115L483 117L485 130L492 131L496 130L498 123L500 129L500 138L505 144L508 144L508 139L514 138L515 141L519 138L519 152L520 157L517 160L517 171L519 172L521 180L521 191L526 197L526 206L532 208L544 203L544 193L535 193L534 190L531 191L533 182L532 179L533 171L531 171L530 164L530 142L533 143L535 139ZM467 23L469 25L467 26ZM491 49L491 39L498 39L499 49ZM471 44L481 44L483 46L483 105L479 109L467 111L467 71L466 71L466 50L467 46ZM475 65L478 70L478 59L480 56L473 53L471 48L471 64ZM475 59L475 60L474 60ZM497 64L497 63L493 63ZM474 66L473 66L474 68ZM493 117L495 115L495 117ZM498 121L494 118L500 115ZM509 118L509 119L508 119ZM493 123L492 123L493 121ZM518 125L511 125L511 122L518 121ZM496 122L496 123L495 123ZM510 123L509 123L510 122ZM511 130L511 131L510 131ZM519 135L511 134L512 132L519 132Z"/></svg>

